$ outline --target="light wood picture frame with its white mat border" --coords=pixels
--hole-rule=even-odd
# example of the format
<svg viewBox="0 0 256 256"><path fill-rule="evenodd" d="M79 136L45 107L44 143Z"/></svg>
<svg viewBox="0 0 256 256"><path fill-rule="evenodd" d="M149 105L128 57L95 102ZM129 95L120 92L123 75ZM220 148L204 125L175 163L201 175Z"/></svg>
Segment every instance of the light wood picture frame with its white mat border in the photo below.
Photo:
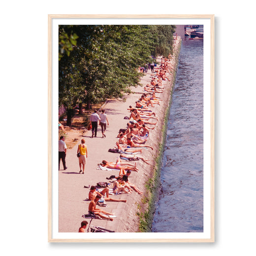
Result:
<svg viewBox="0 0 256 256"><path fill-rule="evenodd" d="M60 232L57 161L58 134L55 129L58 111L58 27L86 24L202 24L204 27L204 173L203 232ZM215 166L214 166L214 15L48 15L48 242L214 242L215 241ZM112 145L111 145L112 146ZM110 147L111 147L110 146ZM75 146L77 148L77 145ZM90 156L90 155L89 155ZM101 159L100 159L101 160ZM57 172L57 173L56 173ZM111 173L112 174L112 173ZM87 184L88 185L88 184ZM84 195L86 197L86 195ZM86 211L81 212L84 214ZM70 216L72 218L72 216ZM86 220L86 219L84 219ZM88 220L87 220L88 221ZM90 221L90 220L89 220ZM89 222L88 221L88 222ZM79 220L81 222L81 220ZM92 235L93 234L93 235Z"/></svg>

